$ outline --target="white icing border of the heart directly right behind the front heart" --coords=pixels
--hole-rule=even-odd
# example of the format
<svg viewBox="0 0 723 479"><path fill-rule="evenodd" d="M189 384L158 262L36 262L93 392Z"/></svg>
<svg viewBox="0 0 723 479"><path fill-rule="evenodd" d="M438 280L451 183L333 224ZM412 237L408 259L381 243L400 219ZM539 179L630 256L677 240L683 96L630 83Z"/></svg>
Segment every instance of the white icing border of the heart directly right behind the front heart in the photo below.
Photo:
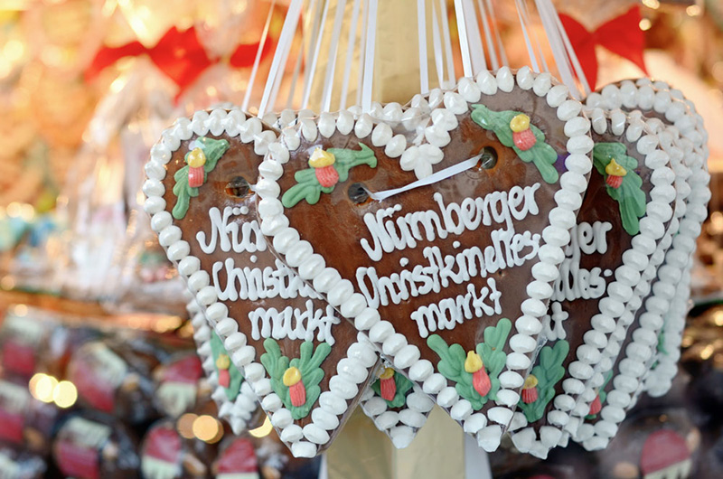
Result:
<svg viewBox="0 0 723 479"><path fill-rule="evenodd" d="M615 268L615 280L606 287L606 295L599 299L599 314L592 318L592 329L585 333L583 343L574 352L577 360L568 365L568 377L562 380L563 394L551 399L554 409L547 414L549 425L540 427L538 437L534 427L527 427L527 418L521 412L515 412L511 427L515 429L512 434L514 445L521 452L542 458L547 456L549 449L567 441L569 431L577 430L575 417L587 415L590 403L596 398L595 388L603 381L603 375L597 370L601 364L606 365L607 348L621 331L624 338L629 325L626 311L634 303L635 291L653 280L654 275L646 281L642 273L659 244L665 243L666 238L670 244L673 233L665 230L663 225L671 220L673 213L675 174L669 167L669 155L659 146L659 138L653 133L653 124L643 122L642 117L628 117L621 110L606 115L596 108L589 116L597 134L609 129L615 136L624 135L643 155L643 163L652 171L653 188L646 214L640 220L640 232L634 236L631 249L624 251L622 265Z"/></svg>

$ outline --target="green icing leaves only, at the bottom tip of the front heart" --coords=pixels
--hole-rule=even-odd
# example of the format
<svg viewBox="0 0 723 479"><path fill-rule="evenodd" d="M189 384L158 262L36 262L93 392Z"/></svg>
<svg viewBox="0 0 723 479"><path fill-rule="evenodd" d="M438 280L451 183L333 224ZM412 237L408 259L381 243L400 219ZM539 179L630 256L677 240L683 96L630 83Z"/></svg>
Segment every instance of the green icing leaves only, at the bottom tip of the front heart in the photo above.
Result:
<svg viewBox="0 0 723 479"><path fill-rule="evenodd" d="M474 389L471 372L465 371L465 350L459 344L447 346L447 343L438 334L432 334L427 338L427 345L439 356L437 370L447 380L455 382L455 390L464 399L467 399L472 408L482 409L489 399L497 399L497 391L500 390L499 376L507 361L507 354L503 351L507 343L507 336L512 330L512 322L502 318L496 326L488 326L484 329L484 343L477 344L475 350L484 363L484 371L490 377L491 388L485 396L480 396Z"/></svg>

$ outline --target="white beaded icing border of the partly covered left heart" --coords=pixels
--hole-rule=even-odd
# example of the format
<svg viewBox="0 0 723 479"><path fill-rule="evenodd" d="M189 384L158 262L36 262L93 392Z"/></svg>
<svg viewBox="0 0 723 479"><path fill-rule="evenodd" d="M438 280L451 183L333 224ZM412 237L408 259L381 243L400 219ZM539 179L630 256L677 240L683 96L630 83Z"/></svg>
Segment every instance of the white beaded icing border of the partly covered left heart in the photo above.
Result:
<svg viewBox="0 0 723 479"><path fill-rule="evenodd" d="M303 127L307 123L300 119L299 124ZM329 442L330 436L326 431L339 427L338 417L349 409L347 400L357 396L359 385L369 377L377 356L368 343L352 343L347 350L347 357L337 364L337 374L329 380L330 390L321 394L319 405L310 412L311 422L303 428L294 424L291 412L283 407L281 399L273 392L264 366L255 361L256 348L247 343L246 334L239 332L239 324L229 317L228 307L218 301L208 273L200 269L201 261L190 254L188 242L182 239L181 230L174 225L171 213L165 210L165 165L171 161L174 151L181 147L184 140L191 139L193 135L209 133L214 136L226 133L231 138L238 137L245 144L253 142L254 151L258 155L278 151L281 146L273 131L262 131L261 120L257 117L247 118L239 109L226 111L215 108L211 113L197 111L190 120L186 117L178 118L174 126L164 130L161 139L151 148L151 157L146 164L147 179L143 185L143 192L146 193L144 210L151 215L151 228L159 236L164 235L164 249L168 258L177 264L179 274L186 280L206 319L223 338L231 361L249 382L261 406L269 414L271 424L280 430L281 440L289 446L295 457L313 457L317 454L318 445ZM260 164L259 173L268 174L268 166L268 162ZM257 192L263 190L263 183L259 181Z"/></svg>

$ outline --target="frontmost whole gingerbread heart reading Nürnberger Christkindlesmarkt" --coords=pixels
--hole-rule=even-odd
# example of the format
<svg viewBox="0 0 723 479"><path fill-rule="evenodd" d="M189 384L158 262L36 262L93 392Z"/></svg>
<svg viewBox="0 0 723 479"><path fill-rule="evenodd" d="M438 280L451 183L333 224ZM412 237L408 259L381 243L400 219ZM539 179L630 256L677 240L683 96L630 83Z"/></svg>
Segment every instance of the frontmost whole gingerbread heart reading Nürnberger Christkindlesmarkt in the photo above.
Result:
<svg viewBox="0 0 723 479"><path fill-rule="evenodd" d="M274 252L487 450L587 187L580 111L549 75L485 71L444 93L412 145L340 112L284 130L260 167Z"/></svg>

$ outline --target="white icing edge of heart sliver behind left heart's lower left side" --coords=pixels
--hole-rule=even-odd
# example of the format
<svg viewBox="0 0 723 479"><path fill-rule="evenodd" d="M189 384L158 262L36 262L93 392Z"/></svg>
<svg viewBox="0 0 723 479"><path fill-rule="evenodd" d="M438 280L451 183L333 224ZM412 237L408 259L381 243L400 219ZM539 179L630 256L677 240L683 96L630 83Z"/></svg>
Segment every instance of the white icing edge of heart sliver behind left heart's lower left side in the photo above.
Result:
<svg viewBox="0 0 723 479"><path fill-rule="evenodd" d="M219 385L219 374L216 371L213 353L211 352L211 327L206 322L201 308L194 299L186 304L193 326L193 341L196 343L196 352L201 358L206 379L211 384L211 399L219 408L219 418L224 418L230 424L233 434L239 436L249 427L249 420L253 418L258 409L258 398L251 390L249 383L244 379L241 383L239 395L230 401L226 389Z"/></svg>

